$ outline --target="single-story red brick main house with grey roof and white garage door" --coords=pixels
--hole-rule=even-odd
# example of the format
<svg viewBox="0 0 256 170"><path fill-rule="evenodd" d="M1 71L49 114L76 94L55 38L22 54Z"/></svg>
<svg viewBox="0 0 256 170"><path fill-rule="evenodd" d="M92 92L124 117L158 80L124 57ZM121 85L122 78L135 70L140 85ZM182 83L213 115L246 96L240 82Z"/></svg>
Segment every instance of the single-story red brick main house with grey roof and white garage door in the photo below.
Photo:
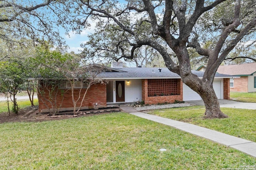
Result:
<svg viewBox="0 0 256 170"><path fill-rule="evenodd" d="M107 67L106 67L107 68ZM199 78L204 72L192 71ZM104 69L99 74L108 84L95 84L90 87L81 109L106 107L108 104L120 104L144 101L145 104L164 102L202 100L200 96L182 83L178 74L168 68L128 68L117 62L111 68ZM229 80L232 76L216 74L213 87L218 99L229 99ZM62 88L68 89L68 85ZM80 89L75 89L78 94ZM86 90L86 87L82 90ZM59 95L61 96L61 94ZM46 112L46 106L40 101L39 111ZM71 91L64 94L62 110L72 110Z"/></svg>

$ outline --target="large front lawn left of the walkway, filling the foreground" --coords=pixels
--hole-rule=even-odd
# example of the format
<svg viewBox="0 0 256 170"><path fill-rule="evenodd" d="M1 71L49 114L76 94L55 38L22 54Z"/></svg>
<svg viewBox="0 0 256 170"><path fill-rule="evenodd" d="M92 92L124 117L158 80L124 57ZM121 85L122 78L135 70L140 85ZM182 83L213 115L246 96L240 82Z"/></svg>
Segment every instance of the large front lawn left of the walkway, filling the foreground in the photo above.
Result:
<svg viewBox="0 0 256 170"><path fill-rule="evenodd" d="M0 136L0 169L206 170L256 165L256 158L235 149L122 112L4 123Z"/></svg>

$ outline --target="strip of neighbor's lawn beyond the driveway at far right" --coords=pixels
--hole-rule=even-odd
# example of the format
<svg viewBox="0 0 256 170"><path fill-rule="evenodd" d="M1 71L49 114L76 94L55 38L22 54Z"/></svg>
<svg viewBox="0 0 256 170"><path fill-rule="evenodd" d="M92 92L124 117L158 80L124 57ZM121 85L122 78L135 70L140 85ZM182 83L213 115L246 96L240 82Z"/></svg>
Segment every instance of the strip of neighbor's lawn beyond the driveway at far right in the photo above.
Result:
<svg viewBox="0 0 256 170"><path fill-rule="evenodd" d="M230 98L234 98L238 102L256 103L256 92L251 92L251 93L230 92Z"/></svg>

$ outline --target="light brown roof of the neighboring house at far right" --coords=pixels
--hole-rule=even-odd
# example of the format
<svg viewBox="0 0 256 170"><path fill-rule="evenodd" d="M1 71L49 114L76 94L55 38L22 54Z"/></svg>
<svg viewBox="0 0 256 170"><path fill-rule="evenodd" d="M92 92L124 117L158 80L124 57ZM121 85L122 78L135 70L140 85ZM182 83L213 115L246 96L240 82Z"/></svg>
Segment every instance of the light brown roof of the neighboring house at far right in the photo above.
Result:
<svg viewBox="0 0 256 170"><path fill-rule="evenodd" d="M250 76L256 72L256 63L219 66L217 72L233 76Z"/></svg>

